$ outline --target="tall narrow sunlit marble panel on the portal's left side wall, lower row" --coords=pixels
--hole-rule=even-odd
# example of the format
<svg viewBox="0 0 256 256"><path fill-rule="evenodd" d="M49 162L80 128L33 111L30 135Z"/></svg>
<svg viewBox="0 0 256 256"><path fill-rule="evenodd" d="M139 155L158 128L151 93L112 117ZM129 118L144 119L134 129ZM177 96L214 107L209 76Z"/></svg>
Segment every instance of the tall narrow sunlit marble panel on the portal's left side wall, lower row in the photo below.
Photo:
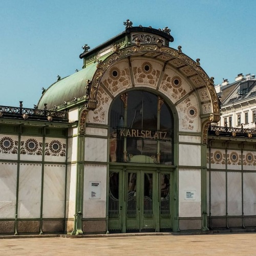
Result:
<svg viewBox="0 0 256 256"><path fill-rule="evenodd" d="M76 164L67 165L66 218L74 218L76 201Z"/></svg>

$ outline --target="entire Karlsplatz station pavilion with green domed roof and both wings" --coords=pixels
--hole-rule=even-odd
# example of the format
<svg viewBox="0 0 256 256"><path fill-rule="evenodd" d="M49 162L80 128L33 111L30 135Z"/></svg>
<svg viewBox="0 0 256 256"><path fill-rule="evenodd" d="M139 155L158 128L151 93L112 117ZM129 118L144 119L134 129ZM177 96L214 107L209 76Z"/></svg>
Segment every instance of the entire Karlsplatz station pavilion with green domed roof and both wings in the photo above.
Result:
<svg viewBox="0 0 256 256"><path fill-rule="evenodd" d="M210 126L214 80L167 27L124 25L35 109L0 106L1 234L256 226L255 133Z"/></svg>

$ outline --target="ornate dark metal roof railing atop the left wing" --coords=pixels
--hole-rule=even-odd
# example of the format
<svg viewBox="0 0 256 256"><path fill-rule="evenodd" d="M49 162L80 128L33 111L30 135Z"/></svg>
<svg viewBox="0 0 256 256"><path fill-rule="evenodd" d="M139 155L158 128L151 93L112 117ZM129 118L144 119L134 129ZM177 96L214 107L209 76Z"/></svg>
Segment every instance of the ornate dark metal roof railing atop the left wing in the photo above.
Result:
<svg viewBox="0 0 256 256"><path fill-rule="evenodd" d="M47 104L43 110L23 108L22 101L19 102L19 107L1 106L0 118L12 119L29 119L29 120L47 120L47 121L68 121L68 112L47 110Z"/></svg>

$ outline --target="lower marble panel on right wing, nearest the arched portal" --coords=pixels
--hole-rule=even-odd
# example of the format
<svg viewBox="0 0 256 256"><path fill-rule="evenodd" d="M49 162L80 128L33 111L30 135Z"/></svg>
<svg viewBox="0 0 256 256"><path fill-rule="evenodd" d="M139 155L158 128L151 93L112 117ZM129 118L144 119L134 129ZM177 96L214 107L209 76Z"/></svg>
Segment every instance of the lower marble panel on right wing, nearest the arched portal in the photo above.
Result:
<svg viewBox="0 0 256 256"><path fill-rule="evenodd" d="M211 215L226 215L226 176L225 172L211 172Z"/></svg>

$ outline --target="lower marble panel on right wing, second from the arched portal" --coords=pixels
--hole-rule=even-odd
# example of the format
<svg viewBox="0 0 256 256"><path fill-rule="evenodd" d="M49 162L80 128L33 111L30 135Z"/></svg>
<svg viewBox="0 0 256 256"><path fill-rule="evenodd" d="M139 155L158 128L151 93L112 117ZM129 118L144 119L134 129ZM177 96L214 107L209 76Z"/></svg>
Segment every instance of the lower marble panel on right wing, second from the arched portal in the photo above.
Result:
<svg viewBox="0 0 256 256"><path fill-rule="evenodd" d="M241 173L227 173L227 212L231 216L242 215Z"/></svg>

